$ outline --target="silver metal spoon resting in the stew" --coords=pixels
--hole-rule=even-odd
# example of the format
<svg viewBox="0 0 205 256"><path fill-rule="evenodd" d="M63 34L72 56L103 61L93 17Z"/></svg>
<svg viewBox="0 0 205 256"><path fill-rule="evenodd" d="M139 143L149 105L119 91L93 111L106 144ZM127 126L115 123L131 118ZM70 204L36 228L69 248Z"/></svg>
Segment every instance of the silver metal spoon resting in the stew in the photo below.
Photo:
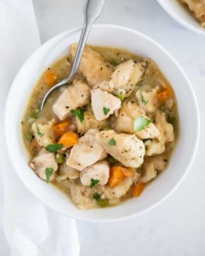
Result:
<svg viewBox="0 0 205 256"><path fill-rule="evenodd" d="M90 29L94 24L94 21L98 18L98 16L101 14L102 7L105 3L105 0L86 0L84 3L84 24L83 24L83 30L80 35L80 40L78 42L76 55L74 57L73 65L70 70L69 77L60 81L54 87L52 87L43 98L42 104L40 105L40 111L43 109L43 105L46 102L47 97L49 97L50 93L54 91L54 89L57 89L59 87L62 87L66 84L71 84L73 82L74 77L76 76L76 73L78 71L80 60L83 55L84 47L86 45L86 41L88 38L88 35L90 33Z"/></svg>

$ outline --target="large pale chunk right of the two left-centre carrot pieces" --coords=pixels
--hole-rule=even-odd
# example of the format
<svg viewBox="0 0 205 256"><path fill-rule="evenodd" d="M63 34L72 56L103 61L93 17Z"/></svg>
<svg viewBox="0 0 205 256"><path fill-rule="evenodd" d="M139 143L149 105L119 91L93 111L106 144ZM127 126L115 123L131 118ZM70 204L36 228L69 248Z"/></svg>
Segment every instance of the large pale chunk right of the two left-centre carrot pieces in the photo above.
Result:
<svg viewBox="0 0 205 256"><path fill-rule="evenodd" d="M84 168L99 161L102 155L106 156L104 148L98 144L95 138L97 132L97 129L90 129L78 139L77 144L71 149L70 157L66 162L67 165L83 171Z"/></svg>

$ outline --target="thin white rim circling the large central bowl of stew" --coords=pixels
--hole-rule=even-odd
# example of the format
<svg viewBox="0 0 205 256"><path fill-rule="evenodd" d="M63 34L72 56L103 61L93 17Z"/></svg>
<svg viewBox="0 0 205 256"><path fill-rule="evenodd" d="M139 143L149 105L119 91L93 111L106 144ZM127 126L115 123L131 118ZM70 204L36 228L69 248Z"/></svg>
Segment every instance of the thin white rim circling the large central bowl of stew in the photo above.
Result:
<svg viewBox="0 0 205 256"><path fill-rule="evenodd" d="M15 172L16 174L18 175L20 181L22 181L23 185L25 185L25 187L33 194L35 195L35 197L42 201L45 205L47 205L48 207L52 208L52 210L54 211L57 211L67 217L70 217L70 218L74 218L76 220L81 220L81 221L89 221L89 222L116 222L116 221L123 221L123 220L128 220L128 219L131 219L133 217L136 217L136 216L139 216L139 215L142 215L144 214L145 212L148 212L150 210L152 210L153 208L155 208L156 206L158 206L159 204L161 204L163 201L165 201L174 191L176 191L176 189L180 186L180 184L182 184L182 182L184 181L184 178L186 177L187 173L189 172L189 169L190 167L192 166L193 164L193 161L194 161L194 158L196 156L196 151L197 151L197 147L198 147L198 144L199 144L199 137L200 137L200 114L199 114L199 106L198 106L198 103L197 103L197 98L196 98L196 95L194 93L194 90L193 90L193 87L192 87L192 84L191 82L189 81L189 78L187 77L186 73L183 71L183 68L178 64L178 62L176 61L176 59L171 55L169 54L169 52L163 48L163 46L161 46L158 42L156 42L155 40L153 40L152 38L149 38L149 36L145 35L145 34L142 34L141 32L138 32L136 31L135 29L131 29L131 28L127 28L125 26L120 26L120 25L114 25L114 24L95 24L94 27L96 28L114 28L114 29L121 29L121 30L125 30L125 31L128 31L128 32L131 32L131 33L135 33L136 35L138 36L141 36L142 38L146 39L147 41L150 41L152 42L153 45L155 45L157 48L160 49L160 51L163 51L163 53L165 55L168 56L168 58L172 59L172 61L175 63L176 67L179 69L179 71L182 73L183 75L183 78L184 80L186 80L187 82L187 86L189 86L189 89L192 93L192 97L193 97L193 104L194 104L194 107L196 109L196 120L197 120L197 124L196 124L196 140L195 140L195 144L194 144L194 147L193 147L193 153L192 153L192 157L189 159L189 164L187 164L187 168L184 169L184 172L183 172L183 175L182 177L179 179L179 181L176 183L176 185L170 189L170 191L165 194L160 200L152 203L149 207L145 208L144 210L141 210L141 211L138 211L138 212L135 212L135 213L132 213L132 214L129 214L129 215L126 215L124 217L117 217L117 218L109 218L109 219L106 219L106 220L103 220L101 218L95 218L95 219L91 219L91 217L75 217L75 216L72 216L72 215L69 215L69 212L68 213L65 213L65 212L62 212L60 211L59 208L55 208L53 204L51 204L50 202L47 202L46 200L43 200L43 198L40 198L39 195L37 194L36 190L35 189L32 189L30 188L25 180L19 175L19 171L18 171L18 168L16 168L16 165L15 165L15 162L13 162L12 160L12 157L11 155L9 154L9 138L8 138L8 134L6 132L6 127L9 125L7 120L8 120L8 117L9 117L9 98L11 97L11 94L12 94L12 91L13 91L13 88L15 87L15 81L18 77L18 74L19 72L24 69L26 67L26 65L28 64L28 62L30 61L30 59L32 58L33 55L36 54L36 52L39 50L40 47L42 47L42 45L46 45L48 44L50 41L54 40L54 39L57 39L57 38L60 38L61 36L63 35L66 35L66 34L71 34L71 33L76 33L76 32L79 32L81 30L81 28L73 28L73 29L69 29L61 34L58 34L56 36L54 36L53 38L50 38L49 40L47 40L46 42L44 42L42 45L39 46L39 48L37 48L30 56L28 59L26 59L26 61L23 63L23 65L20 67L19 71L16 73L15 75L15 78L13 79L12 81L12 84L11 84L11 88L9 89L9 92L8 92L8 95L7 95L7 98L6 98L6 103L5 103L5 110L4 110L4 135L5 135L5 142L6 142L6 151L8 152L8 157L11 161L11 164L12 164L12 167L13 169L15 169ZM177 146L176 146L177 147Z"/></svg>

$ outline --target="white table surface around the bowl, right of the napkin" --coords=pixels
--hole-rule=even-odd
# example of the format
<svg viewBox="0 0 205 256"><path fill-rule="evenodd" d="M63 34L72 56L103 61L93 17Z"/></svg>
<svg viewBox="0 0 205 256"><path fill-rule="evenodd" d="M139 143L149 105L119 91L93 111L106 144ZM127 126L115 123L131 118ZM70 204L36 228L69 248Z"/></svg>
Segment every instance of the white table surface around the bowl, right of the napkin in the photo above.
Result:
<svg viewBox="0 0 205 256"><path fill-rule="evenodd" d="M42 42L82 25L83 0L33 2ZM205 36L177 24L155 0L107 0L97 23L134 28L158 41L177 59L196 92L202 132L187 178L163 204L140 217L113 224L77 221L81 255L205 255Z"/></svg>

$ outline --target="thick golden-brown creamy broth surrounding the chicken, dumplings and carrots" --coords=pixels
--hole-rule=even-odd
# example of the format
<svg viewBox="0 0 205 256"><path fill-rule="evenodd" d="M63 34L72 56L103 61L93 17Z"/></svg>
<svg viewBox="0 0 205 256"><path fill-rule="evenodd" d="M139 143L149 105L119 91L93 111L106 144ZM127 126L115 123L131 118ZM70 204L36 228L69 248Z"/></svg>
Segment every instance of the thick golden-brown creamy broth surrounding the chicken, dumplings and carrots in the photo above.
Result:
<svg viewBox="0 0 205 256"><path fill-rule="evenodd" d="M127 99L124 99L122 101L122 106L123 106L123 104L125 104L125 102L128 102L132 98L134 99L134 101L138 102L139 99L136 98L135 94L139 89L141 90L141 96L142 96L143 91L150 92L150 91L152 91L152 89L154 90L155 88L158 88L158 90L159 90L158 96L160 97L160 95L159 95L160 92L163 92L164 89L167 87L170 88L170 90L171 90L170 93L172 94L172 97L170 97L170 98L168 97L167 99L165 99L165 101L163 103L160 103L157 111L154 111L154 112L152 112L152 111L146 112L145 111L146 117L148 117L148 119L150 119L152 121L153 125L155 125L155 123L157 122L157 121L155 121L157 112L165 113L166 121L168 121L169 124L173 125L173 134L175 136L174 141L166 142L165 150L162 152L162 154L157 154L160 158L160 161L163 161L163 169L166 169L169 165L169 159L172 155L173 149L175 148L175 145L177 142L177 137L179 136L179 115L177 112L177 101L176 101L175 94L174 94L172 87L169 84L168 80L165 78L165 76L162 74L162 72L160 71L158 66L152 60L143 59L141 56L132 54L131 52L128 52L124 49L102 47L102 46L91 46L91 48L94 49L95 51L99 52L103 56L103 58L107 64L107 67L112 69L112 71L115 70L117 65L124 63L124 62L128 61L129 59L133 59L136 62L145 61L147 67L145 67L145 71L143 73L143 77L142 77L141 81L139 81L135 85L134 91L132 92L131 96L129 96ZM60 89L57 89L56 91L54 91L53 94L50 95L49 99L46 101L43 111L39 112L39 105L42 102L44 95L50 88L46 84L45 75L47 74L47 72L54 72L54 74L57 77L56 82L61 81L62 79L66 78L67 75L69 74L70 66L71 66L71 56L69 54L68 56L65 56L64 58L59 59L53 65L48 67L47 70L40 77L39 81L37 81L37 84L35 85L35 87L33 89L32 95L29 98L28 106L26 108L25 114L22 119L22 134L23 134L23 140L25 142L25 146L29 151L31 159L33 157L36 157L39 149L41 148L41 147L39 147L38 144L36 144L36 138L35 138L35 135L33 134L32 124L34 122L36 122L36 120L38 122L45 123L53 118L55 119L55 122L54 122L55 124L60 122L59 118L57 118L57 116L54 114L52 108L53 108L54 103L57 101L59 96L62 94L64 88L60 88ZM86 78L82 74L80 74L80 72L77 75L77 79L81 79L82 81L86 82ZM145 99L144 99L144 101L145 101ZM122 108L122 106L121 106L121 108ZM142 106L142 107L144 107L144 106ZM91 105L88 104L84 108L91 109ZM118 115L119 115L119 113L121 113L120 111L121 111L121 109L118 110ZM109 129L113 129L114 131L117 131L116 122L117 122L118 117L115 114L112 114L109 118L106 119L106 121L105 121L106 124L100 130L107 131ZM69 119L74 125L76 125L76 116L73 115L69 118L66 118L66 120L67 119ZM76 130L75 130L75 132L76 132ZM38 131L38 133L39 133L39 131ZM84 132L81 132L78 129L77 129L77 133L78 133L79 138L82 137L84 134ZM126 132L126 133L130 134L130 132ZM149 143L148 145L145 145L145 152L149 150L148 149L149 145L154 140L155 139L149 139L149 138L142 139L144 144ZM57 144L58 141L59 141L59 138L56 138L54 143ZM67 149L66 152L68 152L67 155L70 155L70 149ZM64 157L67 157L65 155L66 154L65 151L63 152L63 151L61 151L61 149L60 149L60 154L63 154ZM134 176L132 185L127 189L127 192L119 198L110 198L107 200L106 195L108 194L108 192L104 191L104 189L106 189L105 185L96 185L93 188L90 188L90 186L86 186L86 185L83 186L81 184L81 181L79 178L80 172L79 172L79 174L77 174L78 171L76 171L76 173L74 173L74 175L76 175L76 178L68 178L68 177L62 178L61 171L59 171L59 169L57 169L57 171L55 172L56 178L54 178L53 181L50 181L50 183L55 185L57 188L59 188L61 191L63 191L68 196L70 196L70 191L72 192L73 191L72 189L75 188L74 186L78 187L79 188L78 190L80 191L79 195L82 197L88 198L88 200L82 204L83 206L78 205L79 203L78 203L78 200L76 200L76 198L75 199L71 198L73 200L74 204L76 204L76 206L80 209L117 205L117 204L121 203L122 201L133 197L134 185L143 183L144 187L146 187L146 185L148 185L149 182L151 182L153 180L151 178L149 181L142 182L141 178L145 176L145 172L146 172L145 166L149 167L149 163L146 165L145 162L146 161L149 162L150 159L152 159L152 158L154 159L155 157L156 156L154 156L154 155L153 156L145 155L144 163L141 164L138 168L132 168L132 169L134 169L134 173L135 173L136 177ZM120 161L118 161L117 159L114 159L109 154L106 158L104 158L104 161L108 162L108 164L110 165L110 168L116 167L116 166L118 166L118 167L124 166ZM59 164L59 168L60 168L60 165L62 165L62 164ZM162 165L162 163L160 163L160 166L161 165ZM163 170L158 169L158 167L156 167L155 171L156 171L156 175L158 175ZM155 178L155 177L153 177L153 178ZM106 185L106 186L109 186L109 185ZM101 188L101 187L104 187L104 188ZM110 187L108 189L110 189ZM99 198L93 199L94 194L97 195L96 193L98 195L100 195L100 198L102 200L101 203L99 203L100 202ZM114 193L114 192L112 192L112 193ZM77 195L77 193L76 193L76 195ZM105 200L107 200L106 205L104 205Z"/></svg>

